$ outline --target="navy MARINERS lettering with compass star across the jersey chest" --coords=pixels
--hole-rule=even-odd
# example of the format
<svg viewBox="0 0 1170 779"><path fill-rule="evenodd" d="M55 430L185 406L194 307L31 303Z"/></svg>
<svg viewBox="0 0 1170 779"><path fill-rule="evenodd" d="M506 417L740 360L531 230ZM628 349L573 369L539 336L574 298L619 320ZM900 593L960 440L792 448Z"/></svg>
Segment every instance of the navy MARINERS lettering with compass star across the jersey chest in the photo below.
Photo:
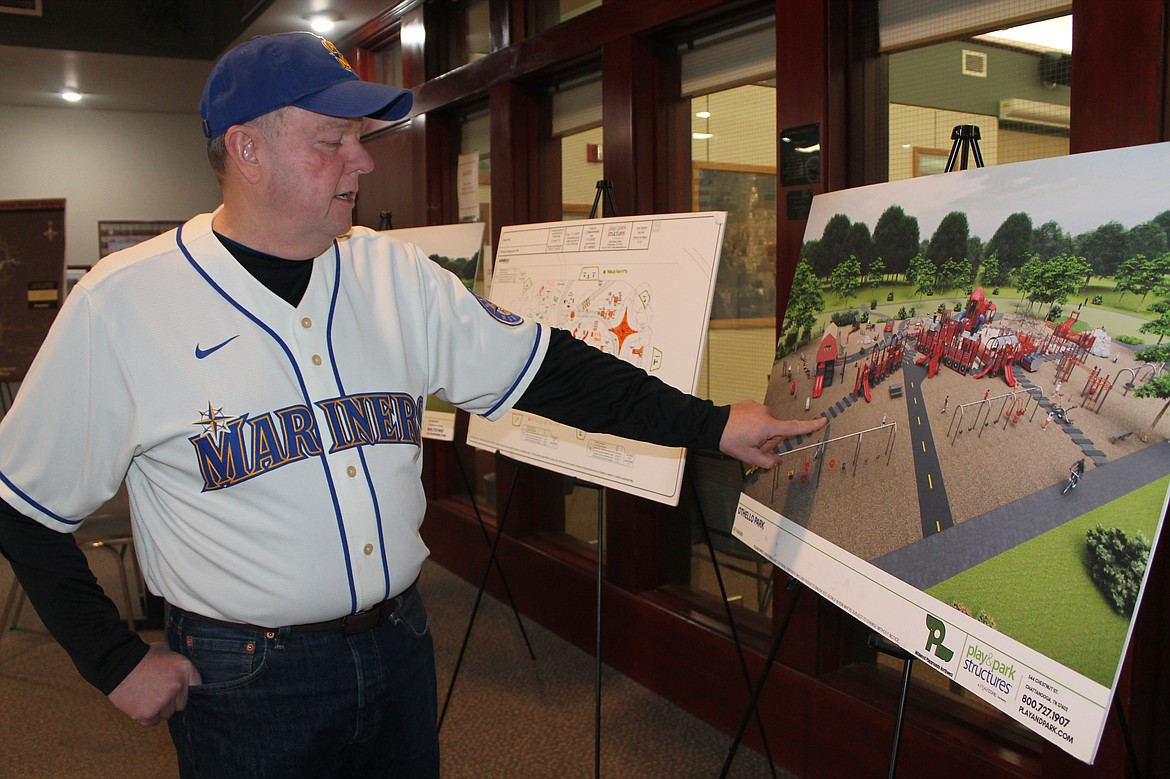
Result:
<svg viewBox="0 0 1170 779"><path fill-rule="evenodd" d="M311 408L289 406L259 416L226 416L208 405L195 422L202 434L195 448L204 491L220 490L262 476L281 466L378 443L422 446L422 398L400 392L370 392L315 404L329 427L328 453Z"/></svg>

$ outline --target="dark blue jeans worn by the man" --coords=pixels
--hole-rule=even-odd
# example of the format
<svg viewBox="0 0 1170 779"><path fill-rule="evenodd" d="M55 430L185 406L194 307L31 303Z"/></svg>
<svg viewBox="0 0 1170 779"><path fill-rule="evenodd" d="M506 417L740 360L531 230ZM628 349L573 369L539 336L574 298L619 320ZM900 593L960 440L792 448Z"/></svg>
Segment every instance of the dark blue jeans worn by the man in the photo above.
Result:
<svg viewBox="0 0 1170 779"><path fill-rule="evenodd" d="M434 646L415 591L376 628L267 632L171 609L202 684L170 721L184 779L436 779Z"/></svg>

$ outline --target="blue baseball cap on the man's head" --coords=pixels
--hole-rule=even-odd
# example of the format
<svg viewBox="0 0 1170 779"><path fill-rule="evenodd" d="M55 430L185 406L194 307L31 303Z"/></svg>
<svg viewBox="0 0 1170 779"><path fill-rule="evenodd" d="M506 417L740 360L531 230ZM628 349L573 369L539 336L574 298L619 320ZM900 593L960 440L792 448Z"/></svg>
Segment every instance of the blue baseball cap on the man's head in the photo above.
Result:
<svg viewBox="0 0 1170 779"><path fill-rule="evenodd" d="M337 47L312 33L257 35L225 54L199 101L204 135L214 138L287 105L347 118L401 119L410 90L376 84L353 73Z"/></svg>

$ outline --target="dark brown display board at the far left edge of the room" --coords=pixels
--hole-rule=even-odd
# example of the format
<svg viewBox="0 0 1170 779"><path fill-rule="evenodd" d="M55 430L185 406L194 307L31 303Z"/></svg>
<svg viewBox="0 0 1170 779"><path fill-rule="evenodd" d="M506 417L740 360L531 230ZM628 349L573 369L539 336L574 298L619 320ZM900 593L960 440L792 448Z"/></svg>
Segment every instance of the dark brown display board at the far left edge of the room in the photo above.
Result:
<svg viewBox="0 0 1170 779"><path fill-rule="evenodd" d="M21 381L63 299L66 201L0 201L0 381Z"/></svg>

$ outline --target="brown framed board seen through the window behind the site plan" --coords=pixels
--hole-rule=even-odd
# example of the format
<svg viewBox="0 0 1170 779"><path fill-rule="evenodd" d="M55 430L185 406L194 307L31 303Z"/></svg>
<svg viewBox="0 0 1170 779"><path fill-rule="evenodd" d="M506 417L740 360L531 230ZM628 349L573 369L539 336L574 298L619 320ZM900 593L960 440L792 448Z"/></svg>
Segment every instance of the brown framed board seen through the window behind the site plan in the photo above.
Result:
<svg viewBox="0 0 1170 779"><path fill-rule="evenodd" d="M728 212L711 326L776 322L776 168L691 163L695 211Z"/></svg>

